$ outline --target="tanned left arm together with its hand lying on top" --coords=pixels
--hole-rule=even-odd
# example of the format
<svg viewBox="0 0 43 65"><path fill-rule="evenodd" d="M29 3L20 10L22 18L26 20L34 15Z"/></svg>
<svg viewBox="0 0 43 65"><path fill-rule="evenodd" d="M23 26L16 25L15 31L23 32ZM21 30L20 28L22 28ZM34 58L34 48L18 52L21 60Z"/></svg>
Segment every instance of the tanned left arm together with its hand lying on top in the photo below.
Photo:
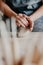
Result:
<svg viewBox="0 0 43 65"><path fill-rule="evenodd" d="M16 14L3 1L0 1L0 8L1 8L2 12L5 15L7 15L8 17L15 17L17 25L19 27L22 26L22 27L26 28L28 25L31 24L31 21L29 21L29 19L27 20L23 14ZM31 24L31 26L32 26L32 24ZM30 26L30 29L31 29L31 26Z"/></svg>

